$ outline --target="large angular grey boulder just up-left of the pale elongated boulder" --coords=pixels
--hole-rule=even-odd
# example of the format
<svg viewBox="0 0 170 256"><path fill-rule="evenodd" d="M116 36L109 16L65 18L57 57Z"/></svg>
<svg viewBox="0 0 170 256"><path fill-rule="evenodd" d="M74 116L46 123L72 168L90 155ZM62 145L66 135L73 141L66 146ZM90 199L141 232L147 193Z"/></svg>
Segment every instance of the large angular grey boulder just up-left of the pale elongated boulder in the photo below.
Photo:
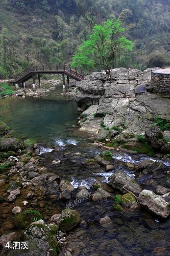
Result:
<svg viewBox="0 0 170 256"><path fill-rule="evenodd" d="M117 170L109 177L109 184L113 188L120 190L122 193L127 193L126 189L128 189L128 191L139 195L140 191L142 190L141 186L136 182L136 180L132 179L122 170Z"/></svg>

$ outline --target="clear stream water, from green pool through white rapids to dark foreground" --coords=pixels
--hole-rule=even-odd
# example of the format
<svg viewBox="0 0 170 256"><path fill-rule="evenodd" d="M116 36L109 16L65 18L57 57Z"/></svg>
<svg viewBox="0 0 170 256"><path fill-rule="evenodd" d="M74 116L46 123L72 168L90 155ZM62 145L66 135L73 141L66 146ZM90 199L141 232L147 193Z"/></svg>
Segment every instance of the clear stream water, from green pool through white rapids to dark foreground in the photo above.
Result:
<svg viewBox="0 0 170 256"><path fill-rule="evenodd" d="M3 99L0 101L0 120L8 123L13 136L36 139L42 145L42 166L47 167L48 172L68 179L75 188L79 185L90 188L94 179L107 182L108 177L117 168L134 177L135 172L128 169L126 163L138 163L145 159L145 156L129 156L115 152L114 169L109 173L106 173L104 167L82 164L85 159L94 158L101 149L88 143L88 140L77 132L76 102L61 93L62 87L38 98ZM58 145L59 151L52 151L53 145ZM60 159L62 164L56 168L52 161ZM164 164L169 168L169 162ZM142 185L144 186L145 181L150 178L152 177L141 180ZM169 176L164 179L161 174L156 178L158 183L163 180L162 185L166 185L170 180ZM161 220L143 209L135 212L116 211L112 206L114 199L103 202L87 200L73 204L87 225L81 225L67 237L68 247L74 249L72 255L170 255L169 219ZM46 202L45 207L37 209L42 215L50 218L65 206L64 202ZM111 218L112 224L102 227L99 219L106 215Z"/></svg>

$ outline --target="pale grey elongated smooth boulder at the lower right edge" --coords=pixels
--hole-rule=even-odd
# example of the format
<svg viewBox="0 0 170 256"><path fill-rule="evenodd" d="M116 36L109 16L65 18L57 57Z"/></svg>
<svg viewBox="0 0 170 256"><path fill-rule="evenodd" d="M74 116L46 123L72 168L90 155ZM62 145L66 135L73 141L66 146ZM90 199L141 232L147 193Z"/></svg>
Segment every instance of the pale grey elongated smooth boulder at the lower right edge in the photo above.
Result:
<svg viewBox="0 0 170 256"><path fill-rule="evenodd" d="M170 214L170 204L151 190L144 189L141 191L139 203L162 218L167 218Z"/></svg>

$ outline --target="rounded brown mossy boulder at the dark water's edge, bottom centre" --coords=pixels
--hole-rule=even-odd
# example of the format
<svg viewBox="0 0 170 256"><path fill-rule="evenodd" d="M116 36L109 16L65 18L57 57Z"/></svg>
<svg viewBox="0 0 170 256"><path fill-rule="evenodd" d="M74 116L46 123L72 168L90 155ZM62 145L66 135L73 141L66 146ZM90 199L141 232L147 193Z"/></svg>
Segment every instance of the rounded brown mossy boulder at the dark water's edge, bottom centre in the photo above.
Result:
<svg viewBox="0 0 170 256"><path fill-rule="evenodd" d="M62 211L61 219L59 220L59 229L63 232L68 232L76 228L80 223L80 216L76 210L66 208Z"/></svg>

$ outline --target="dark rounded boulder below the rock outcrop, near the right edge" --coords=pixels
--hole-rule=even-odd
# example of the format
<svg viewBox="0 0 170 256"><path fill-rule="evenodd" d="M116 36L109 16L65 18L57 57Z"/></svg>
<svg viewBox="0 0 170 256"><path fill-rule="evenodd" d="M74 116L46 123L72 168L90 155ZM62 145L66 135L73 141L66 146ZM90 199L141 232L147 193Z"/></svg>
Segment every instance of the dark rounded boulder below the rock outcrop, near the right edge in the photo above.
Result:
<svg viewBox="0 0 170 256"><path fill-rule="evenodd" d="M145 132L145 138L151 143L152 147L159 149L165 143L163 140L163 133L159 127L152 127Z"/></svg>

